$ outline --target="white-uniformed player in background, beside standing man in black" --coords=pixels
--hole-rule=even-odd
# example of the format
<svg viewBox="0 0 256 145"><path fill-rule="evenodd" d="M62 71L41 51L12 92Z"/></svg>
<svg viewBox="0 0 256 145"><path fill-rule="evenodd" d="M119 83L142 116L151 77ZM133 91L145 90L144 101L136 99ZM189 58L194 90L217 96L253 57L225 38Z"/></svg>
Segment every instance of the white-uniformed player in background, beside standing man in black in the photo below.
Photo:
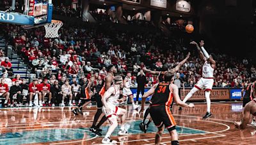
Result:
<svg viewBox="0 0 256 145"><path fill-rule="evenodd" d="M126 98L126 97L129 97L130 100L131 100L131 102L132 102L132 107L133 107L133 109L137 109L139 106L134 103L132 91L131 91L131 89L130 89L131 84L132 84L131 73L128 72L128 73L127 73L127 76L125 76L125 79L124 79L123 96L124 96L125 98Z"/></svg>

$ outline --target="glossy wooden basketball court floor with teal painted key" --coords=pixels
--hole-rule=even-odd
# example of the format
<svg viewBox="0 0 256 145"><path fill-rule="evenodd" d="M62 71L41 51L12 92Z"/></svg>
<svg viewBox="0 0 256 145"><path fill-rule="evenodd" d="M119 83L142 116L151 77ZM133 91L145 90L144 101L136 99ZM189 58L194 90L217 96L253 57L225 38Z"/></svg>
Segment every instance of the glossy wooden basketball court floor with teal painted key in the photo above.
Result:
<svg viewBox="0 0 256 145"><path fill-rule="evenodd" d="M180 144L256 144L255 127L245 130L234 127L234 121L241 118L241 102L213 103L213 116L202 120L206 104L195 104L195 108L174 106L173 116L177 121ZM141 132L142 116L132 106L127 109L127 125L131 135L118 136L119 128L113 133L118 144L154 144L157 128L154 123L147 133ZM89 131L96 106L84 108L84 115L74 116L72 107L28 107L1 109L0 144L100 144L108 130L104 123L102 136ZM170 144L170 135L164 131L161 144Z"/></svg>

